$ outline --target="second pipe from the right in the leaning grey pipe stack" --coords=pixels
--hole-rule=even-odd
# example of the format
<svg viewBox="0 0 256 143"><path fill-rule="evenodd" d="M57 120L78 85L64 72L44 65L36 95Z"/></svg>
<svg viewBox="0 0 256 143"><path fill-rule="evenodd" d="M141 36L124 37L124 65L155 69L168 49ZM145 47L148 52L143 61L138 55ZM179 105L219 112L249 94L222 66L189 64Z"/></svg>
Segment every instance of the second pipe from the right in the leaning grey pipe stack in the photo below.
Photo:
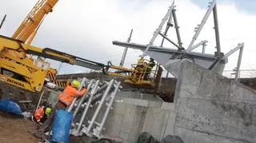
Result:
<svg viewBox="0 0 256 143"><path fill-rule="evenodd" d="M104 93L103 96L102 96L102 99L101 99L101 101L100 101L100 103L99 103L99 105L98 105L98 107L97 107L97 109L96 109L96 111L95 111L95 113L94 113L94 116L93 116L92 119L90 120L90 124L89 124L88 128L87 128L86 131L85 131L86 134L89 134L89 133L90 133L90 129L91 129L92 126L94 125L94 121L96 120L96 117L98 116L98 113L99 113L100 109L102 108L102 105L103 105L103 103L104 103L104 101L105 101L105 99L106 99L106 96L108 95L108 93L109 93L109 91L110 91L110 89L111 89L113 83L114 83L114 79L112 79L112 80L109 82L109 85L107 86L106 91L105 91L105 93Z"/></svg>

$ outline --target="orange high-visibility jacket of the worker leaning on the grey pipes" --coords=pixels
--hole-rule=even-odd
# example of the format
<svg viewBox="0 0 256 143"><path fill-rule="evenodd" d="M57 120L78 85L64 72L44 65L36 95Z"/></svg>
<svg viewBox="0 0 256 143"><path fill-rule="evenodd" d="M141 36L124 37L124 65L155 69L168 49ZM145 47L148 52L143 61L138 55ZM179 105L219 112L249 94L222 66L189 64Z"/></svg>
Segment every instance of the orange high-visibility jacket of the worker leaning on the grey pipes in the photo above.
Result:
<svg viewBox="0 0 256 143"><path fill-rule="evenodd" d="M58 95L58 101L61 101L65 105L70 105L74 100L74 95L78 95L79 97L82 97L82 95L86 93L86 91L87 89L82 89L81 91L78 91L71 85L67 85L63 93Z"/></svg>

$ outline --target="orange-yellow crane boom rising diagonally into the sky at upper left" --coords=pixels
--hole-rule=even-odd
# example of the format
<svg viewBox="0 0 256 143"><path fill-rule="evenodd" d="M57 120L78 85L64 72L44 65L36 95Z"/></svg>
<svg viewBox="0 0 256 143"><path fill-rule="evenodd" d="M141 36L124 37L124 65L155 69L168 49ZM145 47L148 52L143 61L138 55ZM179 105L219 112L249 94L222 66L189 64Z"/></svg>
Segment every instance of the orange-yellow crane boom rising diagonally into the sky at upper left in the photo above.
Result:
<svg viewBox="0 0 256 143"><path fill-rule="evenodd" d="M58 2L58 0L39 0L33 9L30 11L18 27L18 30L15 31L12 38L15 38L21 42L26 42L31 36L34 38L34 33L36 32L42 19L53 10L53 7ZM30 42L33 40L30 39Z"/></svg>

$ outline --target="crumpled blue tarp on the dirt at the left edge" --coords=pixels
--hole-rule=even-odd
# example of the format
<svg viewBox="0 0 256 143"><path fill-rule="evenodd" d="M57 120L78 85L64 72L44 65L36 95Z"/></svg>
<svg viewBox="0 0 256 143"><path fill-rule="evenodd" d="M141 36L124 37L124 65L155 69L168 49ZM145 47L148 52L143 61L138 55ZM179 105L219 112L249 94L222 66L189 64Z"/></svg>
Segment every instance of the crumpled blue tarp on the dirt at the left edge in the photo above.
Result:
<svg viewBox="0 0 256 143"><path fill-rule="evenodd" d="M15 115L22 115L22 109L14 101L9 99L2 99L0 101L0 110L6 113L13 113Z"/></svg>

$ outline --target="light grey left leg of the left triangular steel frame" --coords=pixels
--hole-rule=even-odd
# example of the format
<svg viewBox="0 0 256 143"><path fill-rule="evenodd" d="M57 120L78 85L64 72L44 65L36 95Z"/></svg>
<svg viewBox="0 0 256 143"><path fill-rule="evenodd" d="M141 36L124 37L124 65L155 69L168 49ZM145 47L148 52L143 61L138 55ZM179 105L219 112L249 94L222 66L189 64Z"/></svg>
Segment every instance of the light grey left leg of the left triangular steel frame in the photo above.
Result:
<svg viewBox="0 0 256 143"><path fill-rule="evenodd" d="M160 30L162 30L162 26L165 24L167 18L170 16L171 11L174 9L174 2L172 3L172 5L170 6L170 9L168 10L168 12L166 13L166 16L162 19L162 22L160 23L160 25L158 26L158 29L154 32L153 34L153 38L151 38L150 43L146 46L146 50L144 50L143 55L146 55L146 52L150 49L150 46L152 46L154 39L157 38Z"/></svg>

